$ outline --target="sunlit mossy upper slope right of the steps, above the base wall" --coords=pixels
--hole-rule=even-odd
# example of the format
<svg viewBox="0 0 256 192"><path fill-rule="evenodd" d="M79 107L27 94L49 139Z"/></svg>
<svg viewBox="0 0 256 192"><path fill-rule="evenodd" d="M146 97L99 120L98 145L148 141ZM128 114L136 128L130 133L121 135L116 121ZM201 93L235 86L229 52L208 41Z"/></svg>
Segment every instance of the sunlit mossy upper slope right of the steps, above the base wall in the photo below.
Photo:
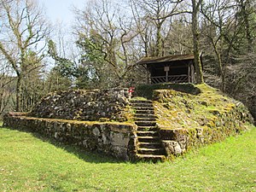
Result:
<svg viewBox="0 0 256 192"><path fill-rule="evenodd" d="M190 85L191 86L191 85ZM194 85L197 94L177 90L154 90L158 124L164 129L232 128L253 122L247 108L207 84Z"/></svg>

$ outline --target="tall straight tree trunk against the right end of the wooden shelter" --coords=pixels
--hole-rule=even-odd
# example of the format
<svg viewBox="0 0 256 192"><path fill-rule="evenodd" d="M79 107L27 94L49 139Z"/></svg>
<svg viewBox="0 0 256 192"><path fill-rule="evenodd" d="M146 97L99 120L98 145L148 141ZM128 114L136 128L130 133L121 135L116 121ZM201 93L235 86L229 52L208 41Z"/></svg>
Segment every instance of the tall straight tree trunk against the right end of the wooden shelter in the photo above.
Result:
<svg viewBox="0 0 256 192"><path fill-rule="evenodd" d="M196 0L192 1L192 33L193 33L193 45L194 45L194 56L195 56L195 79L197 84L203 84L203 73L202 73L202 67L201 67L201 58L200 58L200 50L199 50L199 32L198 32L198 21L197 21L197 15L199 12L199 6L201 3L201 0L199 0L198 3L196 3Z"/></svg>

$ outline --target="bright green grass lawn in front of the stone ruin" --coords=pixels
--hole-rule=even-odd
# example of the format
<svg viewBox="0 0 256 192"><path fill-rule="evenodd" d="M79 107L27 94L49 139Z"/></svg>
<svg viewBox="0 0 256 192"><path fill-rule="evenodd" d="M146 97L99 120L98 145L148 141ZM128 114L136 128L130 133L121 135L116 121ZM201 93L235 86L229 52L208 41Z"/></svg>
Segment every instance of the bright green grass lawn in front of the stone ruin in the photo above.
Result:
<svg viewBox="0 0 256 192"><path fill-rule="evenodd" d="M132 164L0 128L0 191L256 191L256 129L173 162Z"/></svg>

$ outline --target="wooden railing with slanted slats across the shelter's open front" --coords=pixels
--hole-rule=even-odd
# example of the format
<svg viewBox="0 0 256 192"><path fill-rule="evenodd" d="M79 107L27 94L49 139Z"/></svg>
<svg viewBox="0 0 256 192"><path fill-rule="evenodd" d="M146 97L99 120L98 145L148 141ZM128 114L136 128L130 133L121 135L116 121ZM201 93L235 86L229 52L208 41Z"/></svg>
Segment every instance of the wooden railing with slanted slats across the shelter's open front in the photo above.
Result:
<svg viewBox="0 0 256 192"><path fill-rule="evenodd" d="M151 77L149 78L151 84L160 84L165 82L172 82L172 83L187 83L189 82L188 75L169 75L166 76L158 76L158 77Z"/></svg>

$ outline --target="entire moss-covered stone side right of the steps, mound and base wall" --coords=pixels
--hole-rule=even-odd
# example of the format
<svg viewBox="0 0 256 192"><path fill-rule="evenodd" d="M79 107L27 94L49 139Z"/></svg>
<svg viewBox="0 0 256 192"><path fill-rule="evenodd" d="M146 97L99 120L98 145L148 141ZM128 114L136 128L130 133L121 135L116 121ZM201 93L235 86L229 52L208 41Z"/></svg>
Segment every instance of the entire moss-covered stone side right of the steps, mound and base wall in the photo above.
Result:
<svg viewBox="0 0 256 192"><path fill-rule="evenodd" d="M169 159L190 148L216 143L245 131L252 115L241 103L206 84L189 94L176 90L154 90L154 110L160 139Z"/></svg>

